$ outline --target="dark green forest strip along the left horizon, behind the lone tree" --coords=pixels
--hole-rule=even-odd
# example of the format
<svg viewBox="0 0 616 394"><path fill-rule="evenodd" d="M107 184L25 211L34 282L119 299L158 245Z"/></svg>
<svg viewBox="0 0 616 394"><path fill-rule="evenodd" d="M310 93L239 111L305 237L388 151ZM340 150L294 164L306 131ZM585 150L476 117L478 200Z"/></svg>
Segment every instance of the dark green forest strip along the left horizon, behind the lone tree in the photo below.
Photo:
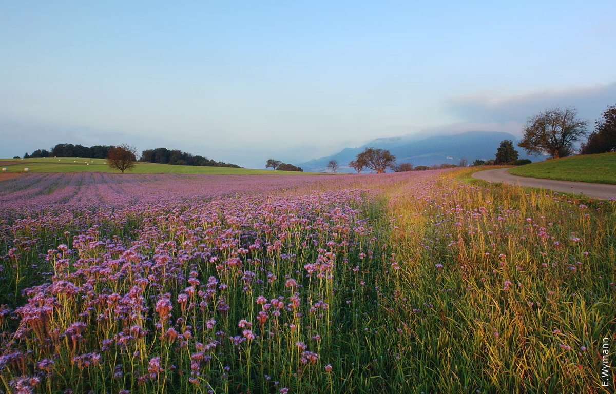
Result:
<svg viewBox="0 0 616 394"><path fill-rule="evenodd" d="M24 159L28 158L92 158L106 159L107 151L111 145L94 145L94 147L83 147L72 143L59 143L51 150L37 149L31 154L26 152ZM237 164L223 163L214 161L199 155L192 155L179 150L168 150L167 148L156 148L144 150L139 161L146 163L177 164L179 166L207 166L207 167L233 167L243 168Z"/></svg>

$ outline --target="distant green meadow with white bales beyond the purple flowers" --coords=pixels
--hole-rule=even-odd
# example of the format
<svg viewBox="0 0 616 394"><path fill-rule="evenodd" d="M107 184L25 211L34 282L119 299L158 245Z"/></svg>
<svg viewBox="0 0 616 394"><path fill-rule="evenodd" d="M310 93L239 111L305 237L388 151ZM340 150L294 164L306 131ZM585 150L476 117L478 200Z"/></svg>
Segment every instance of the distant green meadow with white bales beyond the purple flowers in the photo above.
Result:
<svg viewBox="0 0 616 394"><path fill-rule="evenodd" d="M84 158L39 158L39 159L0 159L0 165L7 172L110 172L120 171L110 169L105 159ZM127 174L213 174L213 175L256 175L256 174L315 174L312 172L272 171L266 169L247 169L232 167L205 166L174 166L171 164L140 163ZM319 173L326 175L325 173Z"/></svg>

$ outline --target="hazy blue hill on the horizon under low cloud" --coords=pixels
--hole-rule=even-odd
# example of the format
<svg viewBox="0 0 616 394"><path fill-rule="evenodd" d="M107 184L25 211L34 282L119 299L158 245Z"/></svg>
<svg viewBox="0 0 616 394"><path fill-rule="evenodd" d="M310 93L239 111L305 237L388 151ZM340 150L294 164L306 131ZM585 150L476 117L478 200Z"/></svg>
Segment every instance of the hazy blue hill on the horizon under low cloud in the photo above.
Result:
<svg viewBox="0 0 616 394"><path fill-rule="evenodd" d="M338 172L354 172L347 164L355 159L358 153L367 147L389 149L399 163L410 161L415 166L432 166L434 164L458 164L460 159L467 159L471 164L476 159L489 160L496 155L496 149L503 140L517 139L513 134L505 132L471 131L454 135L434 135L432 137L417 138L399 137L392 139L376 139L361 147L344 148L338 153L324 158L313 159L298 164L305 171L326 171L327 163L331 159L337 160L340 165ZM533 159L521 148L520 159ZM535 160L537 158L534 158Z"/></svg>

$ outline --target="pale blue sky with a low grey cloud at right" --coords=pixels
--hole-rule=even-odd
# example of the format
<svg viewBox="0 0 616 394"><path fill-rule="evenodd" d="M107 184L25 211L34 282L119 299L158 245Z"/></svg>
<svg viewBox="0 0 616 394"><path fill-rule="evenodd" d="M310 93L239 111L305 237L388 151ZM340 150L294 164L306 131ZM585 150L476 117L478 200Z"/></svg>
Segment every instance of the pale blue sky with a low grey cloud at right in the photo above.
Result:
<svg viewBox="0 0 616 394"><path fill-rule="evenodd" d="M166 147L245 167L616 104L616 2L0 0L0 158Z"/></svg>

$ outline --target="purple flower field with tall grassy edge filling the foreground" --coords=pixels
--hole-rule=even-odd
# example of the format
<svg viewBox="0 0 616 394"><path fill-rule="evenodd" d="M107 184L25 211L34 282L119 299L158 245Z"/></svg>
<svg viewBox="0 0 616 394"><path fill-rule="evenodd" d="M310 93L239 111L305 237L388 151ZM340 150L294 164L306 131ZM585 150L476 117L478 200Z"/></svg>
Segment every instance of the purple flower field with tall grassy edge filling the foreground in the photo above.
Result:
<svg viewBox="0 0 616 394"><path fill-rule="evenodd" d="M616 201L473 171L4 180L0 392L612 393Z"/></svg>

